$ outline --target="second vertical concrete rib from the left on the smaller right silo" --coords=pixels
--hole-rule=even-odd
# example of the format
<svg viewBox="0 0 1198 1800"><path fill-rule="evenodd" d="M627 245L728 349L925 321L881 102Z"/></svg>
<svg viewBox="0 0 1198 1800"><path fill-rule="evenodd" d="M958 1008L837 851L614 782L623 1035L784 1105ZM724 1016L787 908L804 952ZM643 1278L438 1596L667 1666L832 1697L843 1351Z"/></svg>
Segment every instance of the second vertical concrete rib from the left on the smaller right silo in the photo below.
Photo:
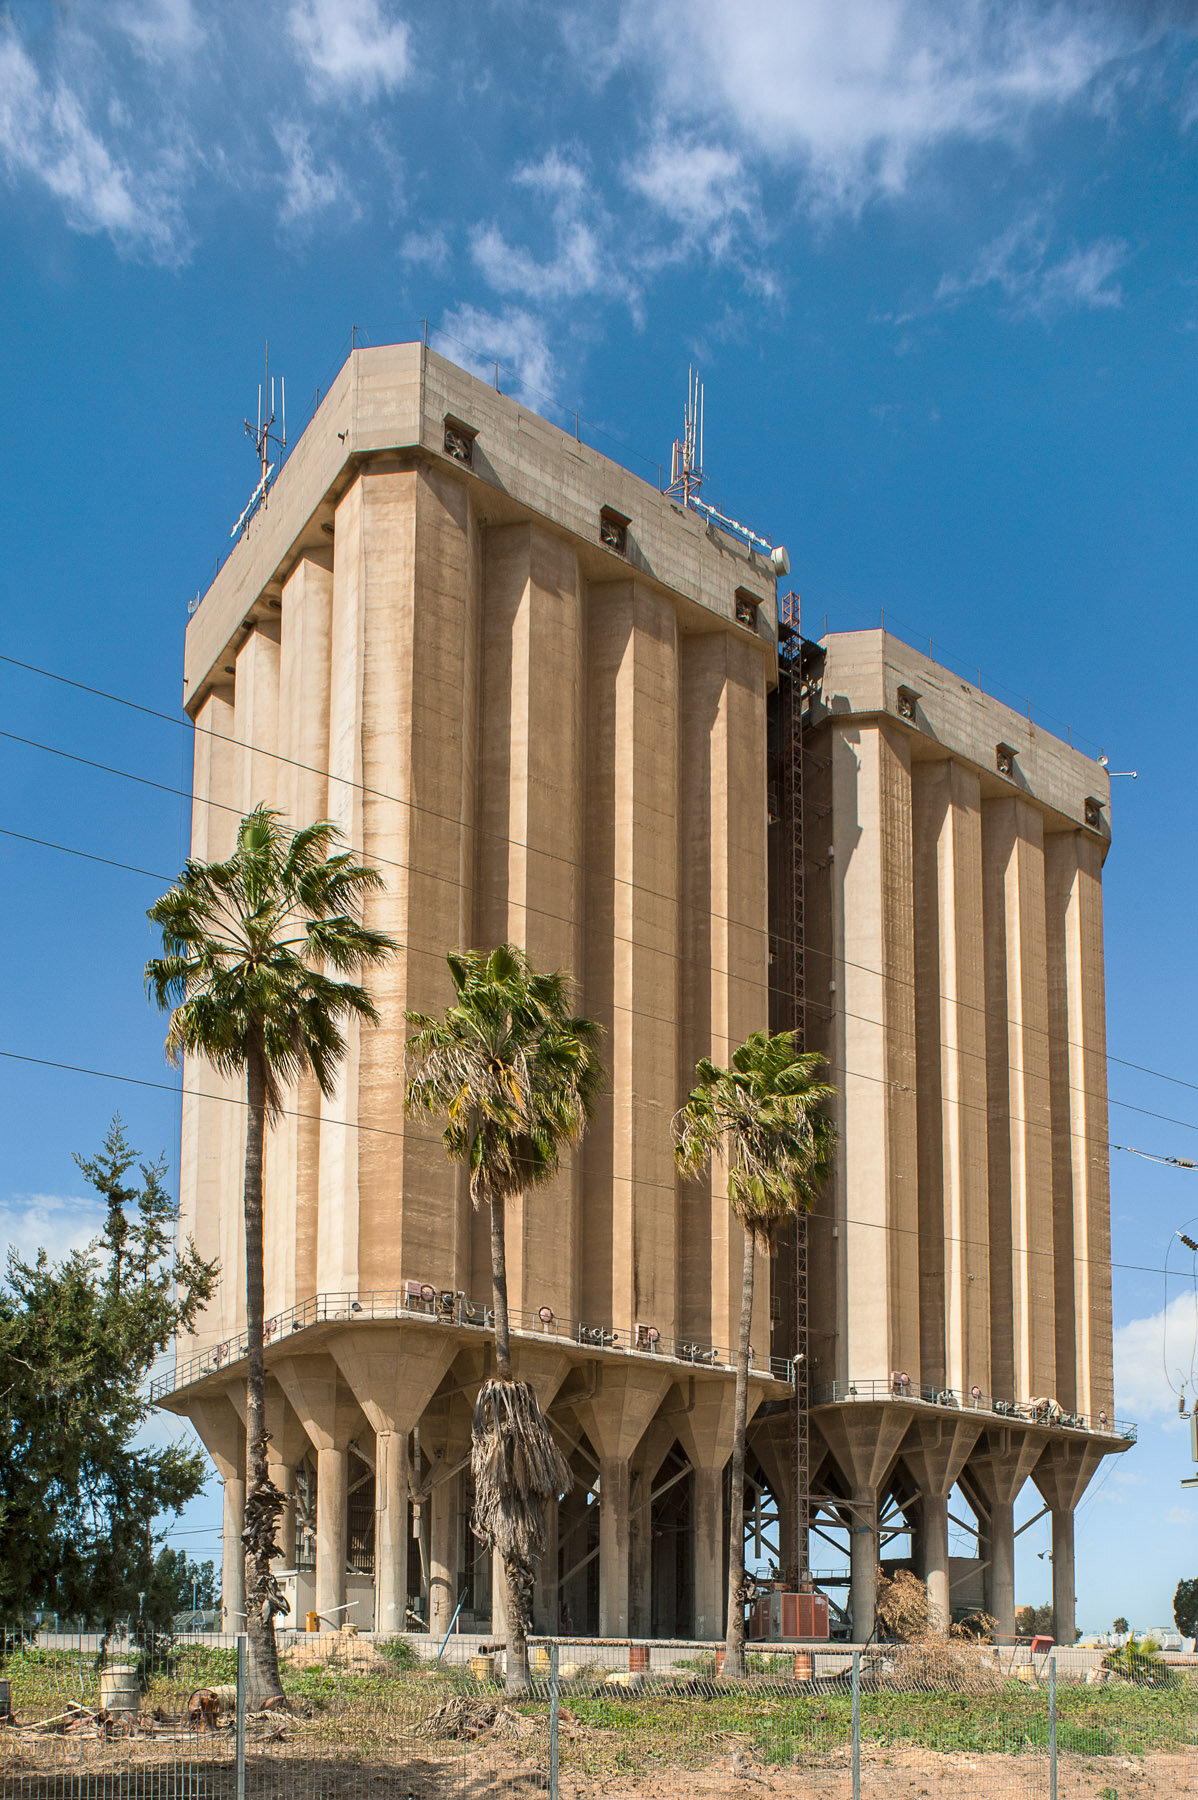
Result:
<svg viewBox="0 0 1198 1800"><path fill-rule="evenodd" d="M916 763L912 821L923 1379L989 1393L979 776Z"/></svg>

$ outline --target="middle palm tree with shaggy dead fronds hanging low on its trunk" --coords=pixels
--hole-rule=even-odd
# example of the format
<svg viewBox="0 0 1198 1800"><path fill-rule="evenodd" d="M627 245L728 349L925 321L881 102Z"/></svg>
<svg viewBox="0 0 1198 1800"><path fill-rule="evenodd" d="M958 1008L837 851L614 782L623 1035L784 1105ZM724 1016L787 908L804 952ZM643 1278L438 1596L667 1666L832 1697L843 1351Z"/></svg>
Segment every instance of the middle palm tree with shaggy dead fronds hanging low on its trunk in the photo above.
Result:
<svg viewBox="0 0 1198 1800"><path fill-rule="evenodd" d="M507 1201L550 1181L595 1107L599 1026L572 1019L570 983L541 976L511 943L448 958L455 1004L444 1019L408 1013L407 1107L446 1120L443 1143L469 1170L469 1197L491 1208L495 1381L471 1424L475 1535L507 1579L507 1692L529 1681L532 1573L545 1552L545 1501L567 1494L570 1471L536 1391L514 1381L507 1318Z"/></svg>

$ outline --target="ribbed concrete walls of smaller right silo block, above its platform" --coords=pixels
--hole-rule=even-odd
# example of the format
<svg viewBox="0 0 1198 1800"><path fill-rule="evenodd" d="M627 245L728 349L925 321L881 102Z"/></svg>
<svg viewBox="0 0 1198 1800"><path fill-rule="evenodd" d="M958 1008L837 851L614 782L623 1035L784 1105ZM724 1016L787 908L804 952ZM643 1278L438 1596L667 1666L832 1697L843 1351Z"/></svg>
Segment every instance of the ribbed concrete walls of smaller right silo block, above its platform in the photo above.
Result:
<svg viewBox="0 0 1198 1800"><path fill-rule="evenodd" d="M815 1384L1110 1413L1106 772L883 632L824 650L806 967L842 1147Z"/></svg>

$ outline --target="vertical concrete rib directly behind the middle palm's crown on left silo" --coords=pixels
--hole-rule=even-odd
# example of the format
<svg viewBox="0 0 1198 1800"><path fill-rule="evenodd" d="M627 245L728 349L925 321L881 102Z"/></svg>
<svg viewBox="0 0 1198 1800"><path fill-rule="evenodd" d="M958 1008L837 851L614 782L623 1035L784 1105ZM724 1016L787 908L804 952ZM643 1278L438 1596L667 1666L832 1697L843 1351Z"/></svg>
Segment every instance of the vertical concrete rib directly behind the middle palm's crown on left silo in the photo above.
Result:
<svg viewBox="0 0 1198 1800"><path fill-rule="evenodd" d="M581 958L583 598L577 554L534 524L484 554L475 941L511 941L577 979ZM552 698L549 698L552 697ZM577 1318L577 1157L507 1211L511 1305ZM486 1220L475 1291L489 1276Z"/></svg>

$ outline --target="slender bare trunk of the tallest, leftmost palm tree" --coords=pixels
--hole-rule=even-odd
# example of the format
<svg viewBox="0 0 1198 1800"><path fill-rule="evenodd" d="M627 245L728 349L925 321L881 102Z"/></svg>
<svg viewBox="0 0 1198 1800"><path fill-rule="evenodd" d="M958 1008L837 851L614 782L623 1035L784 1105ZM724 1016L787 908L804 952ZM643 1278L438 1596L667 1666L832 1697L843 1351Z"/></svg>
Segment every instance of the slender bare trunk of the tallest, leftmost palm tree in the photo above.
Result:
<svg viewBox="0 0 1198 1800"><path fill-rule="evenodd" d="M266 1139L266 1053L252 1044L246 1064L248 1118L245 1132L245 1609L250 1703L282 1699L275 1620L270 1609L275 1584L270 1559L277 1555L275 1525L282 1496L266 1465L266 1357L263 1267L263 1150Z"/></svg>

